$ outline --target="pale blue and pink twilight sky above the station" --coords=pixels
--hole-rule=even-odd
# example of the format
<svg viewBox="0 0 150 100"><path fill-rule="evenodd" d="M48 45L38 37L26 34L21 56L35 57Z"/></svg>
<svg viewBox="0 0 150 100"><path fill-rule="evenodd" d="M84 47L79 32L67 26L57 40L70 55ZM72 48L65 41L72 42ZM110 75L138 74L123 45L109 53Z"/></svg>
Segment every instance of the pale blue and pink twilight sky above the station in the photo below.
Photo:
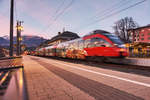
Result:
<svg viewBox="0 0 150 100"><path fill-rule="evenodd" d="M58 32L71 31L83 36L93 30L113 32L114 23L132 17L140 26L150 24L150 0L14 0L14 35L16 20L24 21L22 35L47 39ZM0 0L0 36L9 35L10 0Z"/></svg>

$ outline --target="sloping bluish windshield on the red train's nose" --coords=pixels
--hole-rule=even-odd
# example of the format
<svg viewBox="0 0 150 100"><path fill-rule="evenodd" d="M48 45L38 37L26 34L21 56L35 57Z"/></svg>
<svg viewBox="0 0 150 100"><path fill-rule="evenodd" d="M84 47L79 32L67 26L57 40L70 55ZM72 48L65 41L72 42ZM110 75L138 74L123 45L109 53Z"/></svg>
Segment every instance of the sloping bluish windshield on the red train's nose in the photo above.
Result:
<svg viewBox="0 0 150 100"><path fill-rule="evenodd" d="M111 41L113 41L114 43L118 44L118 45L122 45L124 44L118 36L116 36L115 34L110 34L110 33L105 33L105 36L107 36Z"/></svg>

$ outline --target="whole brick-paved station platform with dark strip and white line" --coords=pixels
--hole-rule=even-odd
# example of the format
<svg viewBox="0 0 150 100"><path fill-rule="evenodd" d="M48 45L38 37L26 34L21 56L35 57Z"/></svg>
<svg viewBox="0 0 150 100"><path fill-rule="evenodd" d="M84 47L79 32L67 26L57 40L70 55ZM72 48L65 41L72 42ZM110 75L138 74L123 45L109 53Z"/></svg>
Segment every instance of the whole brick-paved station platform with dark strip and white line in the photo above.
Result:
<svg viewBox="0 0 150 100"><path fill-rule="evenodd" d="M145 70L100 68L34 56L24 56L23 63L29 100L149 100L149 72Z"/></svg>

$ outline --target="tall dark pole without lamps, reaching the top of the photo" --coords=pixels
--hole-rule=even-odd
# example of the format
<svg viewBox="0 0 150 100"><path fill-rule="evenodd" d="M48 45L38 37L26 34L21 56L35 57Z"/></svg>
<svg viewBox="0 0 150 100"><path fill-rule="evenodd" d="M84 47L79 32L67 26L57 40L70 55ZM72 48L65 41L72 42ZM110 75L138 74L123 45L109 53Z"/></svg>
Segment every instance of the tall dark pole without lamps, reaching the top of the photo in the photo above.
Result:
<svg viewBox="0 0 150 100"><path fill-rule="evenodd" d="M13 56L13 20L14 20L14 0L11 0L11 7L10 7L10 45L9 45L9 56Z"/></svg>

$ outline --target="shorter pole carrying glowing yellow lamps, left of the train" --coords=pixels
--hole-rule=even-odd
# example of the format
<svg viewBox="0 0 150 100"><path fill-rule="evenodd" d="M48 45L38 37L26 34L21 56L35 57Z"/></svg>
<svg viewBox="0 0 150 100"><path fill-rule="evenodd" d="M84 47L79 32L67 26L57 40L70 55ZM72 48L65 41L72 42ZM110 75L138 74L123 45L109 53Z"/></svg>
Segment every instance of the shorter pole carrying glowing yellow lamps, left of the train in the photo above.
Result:
<svg viewBox="0 0 150 100"><path fill-rule="evenodd" d="M20 56L21 54L21 31L23 30L23 27L21 26L21 24L23 23L23 21L17 21L17 56Z"/></svg>

